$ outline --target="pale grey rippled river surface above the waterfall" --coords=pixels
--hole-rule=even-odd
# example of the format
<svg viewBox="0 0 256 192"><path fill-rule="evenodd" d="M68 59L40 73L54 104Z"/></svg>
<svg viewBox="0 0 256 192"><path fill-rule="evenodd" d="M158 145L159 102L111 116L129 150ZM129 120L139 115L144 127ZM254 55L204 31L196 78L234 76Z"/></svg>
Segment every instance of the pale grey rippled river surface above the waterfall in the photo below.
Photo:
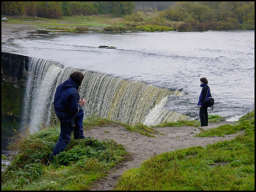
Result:
<svg viewBox="0 0 256 192"><path fill-rule="evenodd" d="M200 78L216 101L214 113L240 116L254 108L255 31L28 34L2 51L182 90L165 108L199 116ZM101 45L116 49L98 48ZM150 101L149 101L150 102Z"/></svg>

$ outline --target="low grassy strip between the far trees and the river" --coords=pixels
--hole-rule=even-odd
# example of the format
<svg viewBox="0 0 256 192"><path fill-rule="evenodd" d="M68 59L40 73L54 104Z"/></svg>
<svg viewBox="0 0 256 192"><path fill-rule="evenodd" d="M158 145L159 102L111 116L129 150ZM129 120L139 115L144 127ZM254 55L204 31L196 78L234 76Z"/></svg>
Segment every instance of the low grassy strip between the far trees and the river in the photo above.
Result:
<svg viewBox="0 0 256 192"><path fill-rule="evenodd" d="M2 15L2 18L4 16ZM3 22L2 22L3 23ZM159 13L145 14L136 12L124 17L114 17L110 15L97 16L73 16L61 17L60 19L48 19L32 16L8 16L5 26L12 24L31 25L37 29L55 29L68 31L208 31L223 29L251 29L254 30L253 24L241 24L234 27L225 22L195 22L195 21L170 21Z"/></svg>

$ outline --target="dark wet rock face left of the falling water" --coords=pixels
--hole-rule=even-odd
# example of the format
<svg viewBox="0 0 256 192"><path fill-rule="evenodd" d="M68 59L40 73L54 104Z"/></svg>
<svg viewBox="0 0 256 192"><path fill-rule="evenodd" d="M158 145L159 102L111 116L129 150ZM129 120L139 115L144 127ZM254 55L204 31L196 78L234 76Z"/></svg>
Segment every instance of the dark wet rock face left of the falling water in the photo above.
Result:
<svg viewBox="0 0 256 192"><path fill-rule="evenodd" d="M20 116L28 73L28 57L2 52L1 112Z"/></svg>

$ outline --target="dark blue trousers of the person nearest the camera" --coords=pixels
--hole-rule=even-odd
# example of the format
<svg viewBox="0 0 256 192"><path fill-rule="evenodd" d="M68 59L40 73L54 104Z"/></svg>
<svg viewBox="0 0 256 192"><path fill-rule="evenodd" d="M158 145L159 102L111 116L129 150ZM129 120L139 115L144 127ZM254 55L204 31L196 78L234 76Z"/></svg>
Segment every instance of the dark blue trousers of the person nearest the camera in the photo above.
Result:
<svg viewBox="0 0 256 192"><path fill-rule="evenodd" d="M54 156L64 151L71 140L73 131L74 139L84 138L83 118L84 110L81 109L74 118L74 124L71 122L60 122L60 136L49 158L50 162Z"/></svg>

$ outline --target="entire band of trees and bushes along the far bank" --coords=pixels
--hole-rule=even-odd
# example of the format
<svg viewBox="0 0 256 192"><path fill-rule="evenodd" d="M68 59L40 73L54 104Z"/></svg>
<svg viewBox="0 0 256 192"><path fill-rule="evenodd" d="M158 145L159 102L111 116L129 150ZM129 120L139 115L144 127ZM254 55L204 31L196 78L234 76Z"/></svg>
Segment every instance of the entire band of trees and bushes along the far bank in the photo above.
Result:
<svg viewBox="0 0 256 192"><path fill-rule="evenodd" d="M254 1L2 1L2 14L58 19L62 16L160 12L156 19L209 29L254 29ZM186 27L187 28L187 27Z"/></svg>

